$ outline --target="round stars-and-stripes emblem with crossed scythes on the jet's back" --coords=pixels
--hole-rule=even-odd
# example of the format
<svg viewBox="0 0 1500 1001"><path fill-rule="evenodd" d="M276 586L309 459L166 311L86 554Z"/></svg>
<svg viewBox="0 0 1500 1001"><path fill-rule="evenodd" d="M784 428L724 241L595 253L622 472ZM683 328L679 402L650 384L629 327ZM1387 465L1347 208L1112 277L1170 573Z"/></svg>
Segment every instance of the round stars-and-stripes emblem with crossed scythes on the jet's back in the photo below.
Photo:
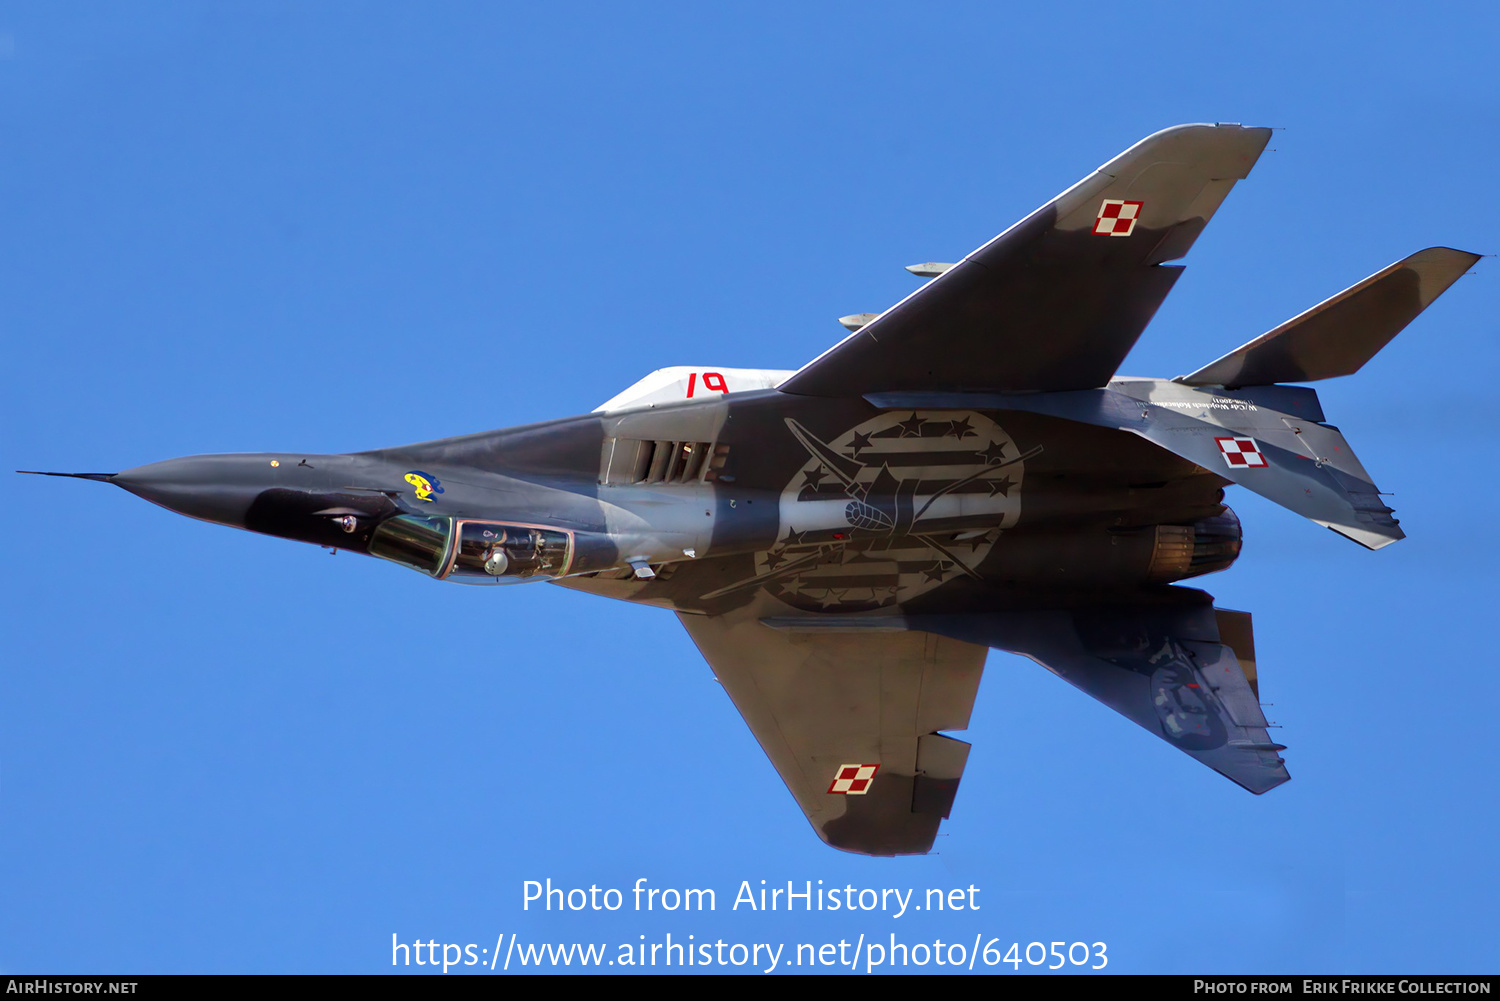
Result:
<svg viewBox="0 0 1500 1001"><path fill-rule="evenodd" d="M807 462L782 494L777 545L753 578L807 611L900 605L978 567L1022 510L1026 459L988 417L892 411L830 440L788 419Z"/></svg>

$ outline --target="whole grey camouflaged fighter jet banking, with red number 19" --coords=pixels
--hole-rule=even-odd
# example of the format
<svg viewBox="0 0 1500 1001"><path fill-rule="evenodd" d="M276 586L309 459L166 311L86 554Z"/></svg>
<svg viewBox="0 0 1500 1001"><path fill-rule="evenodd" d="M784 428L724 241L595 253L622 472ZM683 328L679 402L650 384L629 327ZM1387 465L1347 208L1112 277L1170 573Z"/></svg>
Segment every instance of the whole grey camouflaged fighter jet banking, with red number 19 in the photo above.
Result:
<svg viewBox="0 0 1500 1001"><path fill-rule="evenodd" d="M681 618L813 830L932 848L988 650L1251 792L1287 782L1227 569L1239 485L1378 549L1392 509L1287 383L1350 375L1478 260L1430 248L1176 378L1122 359L1270 135L1125 150L795 371L664 368L596 411L352 455L204 455L114 483L459 584Z"/></svg>

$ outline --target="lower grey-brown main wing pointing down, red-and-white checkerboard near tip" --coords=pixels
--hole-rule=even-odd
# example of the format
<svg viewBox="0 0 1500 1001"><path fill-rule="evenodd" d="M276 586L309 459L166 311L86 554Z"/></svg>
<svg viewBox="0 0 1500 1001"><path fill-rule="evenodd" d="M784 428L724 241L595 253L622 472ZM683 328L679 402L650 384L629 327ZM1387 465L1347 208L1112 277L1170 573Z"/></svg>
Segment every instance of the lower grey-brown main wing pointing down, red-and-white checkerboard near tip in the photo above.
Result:
<svg viewBox="0 0 1500 1001"><path fill-rule="evenodd" d="M969 725L987 650L766 611L678 618L819 837L867 855L928 851L969 756L938 731Z"/></svg>

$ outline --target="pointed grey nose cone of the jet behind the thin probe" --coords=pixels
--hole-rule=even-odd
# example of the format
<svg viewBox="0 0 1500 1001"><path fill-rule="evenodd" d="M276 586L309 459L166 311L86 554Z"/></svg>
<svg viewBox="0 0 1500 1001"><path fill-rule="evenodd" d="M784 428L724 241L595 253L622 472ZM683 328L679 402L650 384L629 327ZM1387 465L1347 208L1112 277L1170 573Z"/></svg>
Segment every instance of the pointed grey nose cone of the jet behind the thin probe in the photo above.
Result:
<svg viewBox="0 0 1500 1001"><path fill-rule="evenodd" d="M194 455L138 465L110 482L178 515L243 528L250 503L272 486L270 462L260 455Z"/></svg>

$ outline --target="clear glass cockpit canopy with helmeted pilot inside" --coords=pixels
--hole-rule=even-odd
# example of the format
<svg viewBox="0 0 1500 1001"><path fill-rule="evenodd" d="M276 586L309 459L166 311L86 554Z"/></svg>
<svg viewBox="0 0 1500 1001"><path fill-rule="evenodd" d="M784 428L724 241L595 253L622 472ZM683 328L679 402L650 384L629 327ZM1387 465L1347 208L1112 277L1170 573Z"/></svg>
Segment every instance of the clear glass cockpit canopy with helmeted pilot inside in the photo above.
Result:
<svg viewBox="0 0 1500 1001"><path fill-rule="evenodd" d="M398 515L375 528L370 555L460 584L524 584L564 576L573 533L538 525Z"/></svg>

